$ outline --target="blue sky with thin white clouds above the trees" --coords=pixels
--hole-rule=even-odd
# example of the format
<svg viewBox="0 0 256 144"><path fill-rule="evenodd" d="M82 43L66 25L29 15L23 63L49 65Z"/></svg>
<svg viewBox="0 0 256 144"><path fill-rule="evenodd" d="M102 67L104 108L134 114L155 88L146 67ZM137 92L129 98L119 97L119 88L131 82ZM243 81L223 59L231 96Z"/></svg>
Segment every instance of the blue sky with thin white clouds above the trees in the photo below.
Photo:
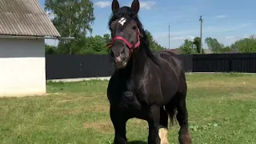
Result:
<svg viewBox="0 0 256 144"><path fill-rule="evenodd" d="M44 0L39 0L44 7ZM92 35L109 33L108 18L111 2L94 2L95 21ZM121 6L130 6L132 0L119 0ZM186 38L200 36L199 17L204 20L203 40L206 37L218 38L224 45L246 38L256 32L255 0L141 0L139 18L154 39L168 48L168 25L170 24L170 48L182 45ZM56 45L53 40L46 41ZM203 44L206 47L206 44Z"/></svg>

